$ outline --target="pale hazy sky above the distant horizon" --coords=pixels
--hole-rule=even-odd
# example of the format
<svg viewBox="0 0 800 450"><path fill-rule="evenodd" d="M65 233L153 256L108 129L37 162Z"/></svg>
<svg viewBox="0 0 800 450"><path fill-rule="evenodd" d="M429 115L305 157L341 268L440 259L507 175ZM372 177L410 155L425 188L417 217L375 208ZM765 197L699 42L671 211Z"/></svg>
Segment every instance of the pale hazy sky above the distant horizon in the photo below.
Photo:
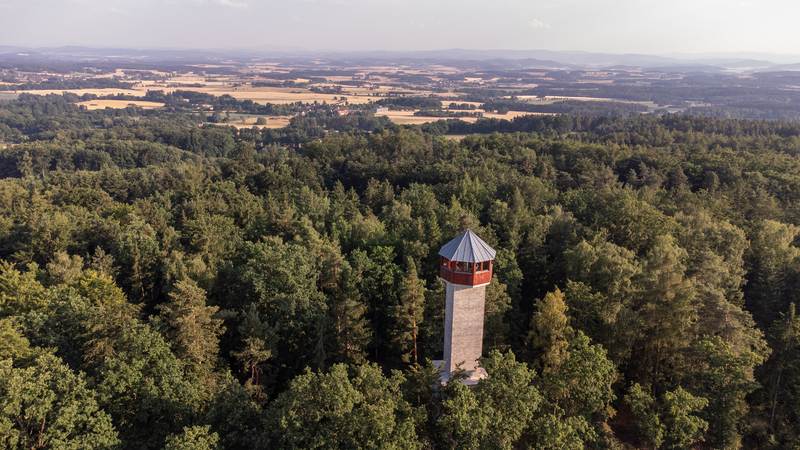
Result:
<svg viewBox="0 0 800 450"><path fill-rule="evenodd" d="M800 0L0 0L0 45L800 54Z"/></svg>

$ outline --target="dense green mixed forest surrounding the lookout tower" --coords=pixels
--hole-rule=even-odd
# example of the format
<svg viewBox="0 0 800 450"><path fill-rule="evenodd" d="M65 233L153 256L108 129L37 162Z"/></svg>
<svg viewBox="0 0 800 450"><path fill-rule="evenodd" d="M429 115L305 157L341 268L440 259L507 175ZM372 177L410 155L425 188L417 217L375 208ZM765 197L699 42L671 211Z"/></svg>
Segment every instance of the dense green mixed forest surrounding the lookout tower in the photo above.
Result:
<svg viewBox="0 0 800 450"><path fill-rule="evenodd" d="M0 104L0 448L800 448L798 124L73 101ZM463 227L472 389L431 364Z"/></svg>

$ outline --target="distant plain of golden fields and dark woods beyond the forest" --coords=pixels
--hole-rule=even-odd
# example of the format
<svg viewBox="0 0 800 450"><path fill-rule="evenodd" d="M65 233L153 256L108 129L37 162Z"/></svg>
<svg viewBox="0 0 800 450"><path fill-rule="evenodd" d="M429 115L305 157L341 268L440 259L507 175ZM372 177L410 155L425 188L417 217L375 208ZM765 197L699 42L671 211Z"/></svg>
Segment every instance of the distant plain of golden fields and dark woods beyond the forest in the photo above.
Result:
<svg viewBox="0 0 800 450"><path fill-rule="evenodd" d="M480 112L483 117L492 119L569 113L688 112L714 115L721 114L721 111L725 111L727 116L742 118L800 117L800 107L795 106L797 102L786 103L787 96L800 95L796 89L800 81L788 75L718 73L705 78L687 78L686 74L641 67L579 70L537 67L534 62L528 67L511 69L498 68L479 60L389 63L378 59L231 58L224 62L206 60L164 67L158 64L137 67L135 60L126 61L124 67L114 65L116 63L106 61L98 64L100 67L90 68L76 63L71 72L24 72L0 68L0 79L3 80L0 82L0 99L14 98L9 94L69 93L90 97L81 98L76 103L93 101L95 97L103 101L125 102L122 106L116 102L93 102L97 106L91 106L117 108L126 106L129 101L158 100L153 94L148 94L152 91L164 94L190 91L219 98L230 96L257 105L296 106L291 111L294 114L301 112L303 105L307 105L306 110L329 105L353 111L374 111L379 106L389 106L390 110L381 115L401 125L419 125L442 117L455 118L453 116L459 111L450 109L450 103L469 105L464 112ZM15 90L15 87L19 89ZM727 90L720 90L722 87ZM741 106L741 95L759 90L764 91L766 103ZM435 98L441 105L434 107L428 103L424 109L430 110L429 114L414 115L419 108L391 105L393 100L404 97ZM785 107L787 104L789 107ZM210 111L198 106L198 109ZM277 111L270 115L287 114ZM464 122L477 120L467 114L458 119ZM280 124L286 119L273 122ZM252 124L237 124L241 125Z"/></svg>

